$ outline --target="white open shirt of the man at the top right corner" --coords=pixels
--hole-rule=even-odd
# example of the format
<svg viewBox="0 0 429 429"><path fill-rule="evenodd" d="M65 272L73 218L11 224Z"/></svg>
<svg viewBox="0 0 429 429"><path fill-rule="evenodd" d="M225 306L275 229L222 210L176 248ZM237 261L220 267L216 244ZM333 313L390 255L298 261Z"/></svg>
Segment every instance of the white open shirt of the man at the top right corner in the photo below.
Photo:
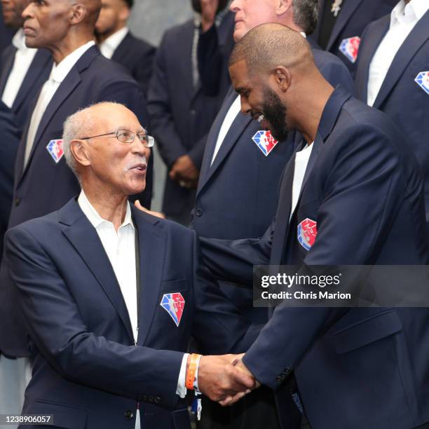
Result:
<svg viewBox="0 0 429 429"><path fill-rule="evenodd" d="M429 9L428 0L401 0L390 14L390 27L369 65L367 104L373 106L388 69L407 36Z"/></svg>

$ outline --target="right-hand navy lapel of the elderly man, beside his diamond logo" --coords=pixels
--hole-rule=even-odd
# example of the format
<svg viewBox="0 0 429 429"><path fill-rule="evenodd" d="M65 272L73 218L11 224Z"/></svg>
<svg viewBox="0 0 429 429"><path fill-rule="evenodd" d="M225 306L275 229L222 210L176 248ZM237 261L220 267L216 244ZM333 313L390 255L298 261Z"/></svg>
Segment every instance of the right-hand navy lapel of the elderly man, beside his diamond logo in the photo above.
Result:
<svg viewBox="0 0 429 429"><path fill-rule="evenodd" d="M147 217L131 206L132 219L139 235L139 334L137 344L147 340L152 320L158 311L163 278L165 232L156 227L157 220Z"/></svg>

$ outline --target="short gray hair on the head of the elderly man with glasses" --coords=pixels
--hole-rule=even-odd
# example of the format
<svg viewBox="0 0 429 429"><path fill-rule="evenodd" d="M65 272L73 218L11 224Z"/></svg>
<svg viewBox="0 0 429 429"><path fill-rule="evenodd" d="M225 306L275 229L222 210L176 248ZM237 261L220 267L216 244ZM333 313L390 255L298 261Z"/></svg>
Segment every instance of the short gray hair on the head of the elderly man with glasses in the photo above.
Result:
<svg viewBox="0 0 429 429"><path fill-rule="evenodd" d="M62 149L64 150L64 158L69 168L71 168L71 171L73 171L78 178L79 182L80 177L77 170L77 163L73 154L71 154L70 144L73 142L73 140L80 139L82 137L88 137L95 125L95 118L90 111L93 109L93 107L101 106L103 104L112 104L115 106L122 105L115 102L100 102L91 104L88 107L79 109L64 121L62 132Z"/></svg>

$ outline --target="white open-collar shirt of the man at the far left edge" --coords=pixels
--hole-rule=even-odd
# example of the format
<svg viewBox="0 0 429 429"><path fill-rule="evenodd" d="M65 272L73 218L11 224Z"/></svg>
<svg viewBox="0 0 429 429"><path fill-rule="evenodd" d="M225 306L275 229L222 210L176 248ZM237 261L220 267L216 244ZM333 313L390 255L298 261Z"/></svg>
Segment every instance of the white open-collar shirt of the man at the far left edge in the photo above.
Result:
<svg viewBox="0 0 429 429"><path fill-rule="evenodd" d="M25 75L37 52L37 49L27 48L27 46L25 46L25 35L22 28L13 36L12 43L17 50L15 52L11 73L8 76L3 95L1 96L1 101L4 102L9 109L12 108L15 102L15 98L18 95Z"/></svg>

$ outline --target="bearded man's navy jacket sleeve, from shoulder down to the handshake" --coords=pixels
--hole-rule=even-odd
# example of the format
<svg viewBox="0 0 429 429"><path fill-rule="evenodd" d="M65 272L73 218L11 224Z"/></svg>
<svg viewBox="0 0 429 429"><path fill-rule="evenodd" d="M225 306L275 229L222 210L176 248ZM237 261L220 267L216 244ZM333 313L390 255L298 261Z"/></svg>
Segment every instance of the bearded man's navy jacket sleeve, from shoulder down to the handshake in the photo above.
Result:
<svg viewBox="0 0 429 429"><path fill-rule="evenodd" d="M318 236L304 259L305 266L374 264L405 198L407 184L400 160L386 137L362 125L350 124L346 132L343 138L354 143L339 151L333 165L327 166ZM245 365L261 383L279 386L284 379L280 374L297 367L315 341L346 311L348 308L280 304L245 356Z"/></svg>

